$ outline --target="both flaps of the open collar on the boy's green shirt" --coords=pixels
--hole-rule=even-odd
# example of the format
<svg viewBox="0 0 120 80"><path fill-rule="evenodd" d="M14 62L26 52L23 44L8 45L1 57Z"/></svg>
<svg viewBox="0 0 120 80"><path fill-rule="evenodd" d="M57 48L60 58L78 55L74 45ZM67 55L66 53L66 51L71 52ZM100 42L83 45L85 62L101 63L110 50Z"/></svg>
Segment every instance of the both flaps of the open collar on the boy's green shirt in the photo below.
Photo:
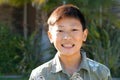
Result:
<svg viewBox="0 0 120 80"><path fill-rule="evenodd" d="M79 67L79 71L81 69L87 70L88 72L90 71L89 66L88 66L88 62L87 62L87 57L86 57L86 53L84 51L81 51L81 56L82 56L82 61ZM62 67L62 64L60 62L60 59L58 57L58 53L55 55L55 57L53 58L53 63L52 63L52 69L51 72L53 73L57 73L60 71L64 71L64 68Z"/></svg>

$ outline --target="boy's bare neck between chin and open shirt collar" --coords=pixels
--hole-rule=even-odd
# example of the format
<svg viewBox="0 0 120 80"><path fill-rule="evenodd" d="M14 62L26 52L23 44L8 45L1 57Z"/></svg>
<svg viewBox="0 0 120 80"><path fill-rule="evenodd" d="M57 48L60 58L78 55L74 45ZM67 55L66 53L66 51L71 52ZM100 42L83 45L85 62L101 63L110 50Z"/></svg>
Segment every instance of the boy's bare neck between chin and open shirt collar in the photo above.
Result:
<svg viewBox="0 0 120 80"><path fill-rule="evenodd" d="M59 54L60 61L67 73L72 74L79 68L81 62L81 54L77 53L74 55L66 56Z"/></svg>

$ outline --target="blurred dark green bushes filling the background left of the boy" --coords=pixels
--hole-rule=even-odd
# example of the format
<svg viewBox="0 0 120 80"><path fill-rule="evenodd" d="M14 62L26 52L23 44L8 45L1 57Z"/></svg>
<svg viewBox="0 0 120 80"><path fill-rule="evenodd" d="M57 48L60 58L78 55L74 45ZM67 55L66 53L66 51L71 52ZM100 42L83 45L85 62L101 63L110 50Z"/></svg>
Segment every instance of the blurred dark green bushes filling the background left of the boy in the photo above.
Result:
<svg viewBox="0 0 120 80"><path fill-rule="evenodd" d="M43 57L40 40L38 31L24 39L0 23L0 74L28 74L39 66Z"/></svg>

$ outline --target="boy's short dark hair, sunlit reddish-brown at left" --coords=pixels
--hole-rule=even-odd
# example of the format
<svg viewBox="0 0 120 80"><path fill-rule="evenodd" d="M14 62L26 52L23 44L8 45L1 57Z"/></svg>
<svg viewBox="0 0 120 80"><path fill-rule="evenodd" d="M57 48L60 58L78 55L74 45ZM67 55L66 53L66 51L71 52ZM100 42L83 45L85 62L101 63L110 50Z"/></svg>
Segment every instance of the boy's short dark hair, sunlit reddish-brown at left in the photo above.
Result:
<svg viewBox="0 0 120 80"><path fill-rule="evenodd" d="M72 4L66 4L57 7L48 18L48 25L54 25L58 20L64 17L76 18L82 24L83 31L86 29L86 21L78 7Z"/></svg>

